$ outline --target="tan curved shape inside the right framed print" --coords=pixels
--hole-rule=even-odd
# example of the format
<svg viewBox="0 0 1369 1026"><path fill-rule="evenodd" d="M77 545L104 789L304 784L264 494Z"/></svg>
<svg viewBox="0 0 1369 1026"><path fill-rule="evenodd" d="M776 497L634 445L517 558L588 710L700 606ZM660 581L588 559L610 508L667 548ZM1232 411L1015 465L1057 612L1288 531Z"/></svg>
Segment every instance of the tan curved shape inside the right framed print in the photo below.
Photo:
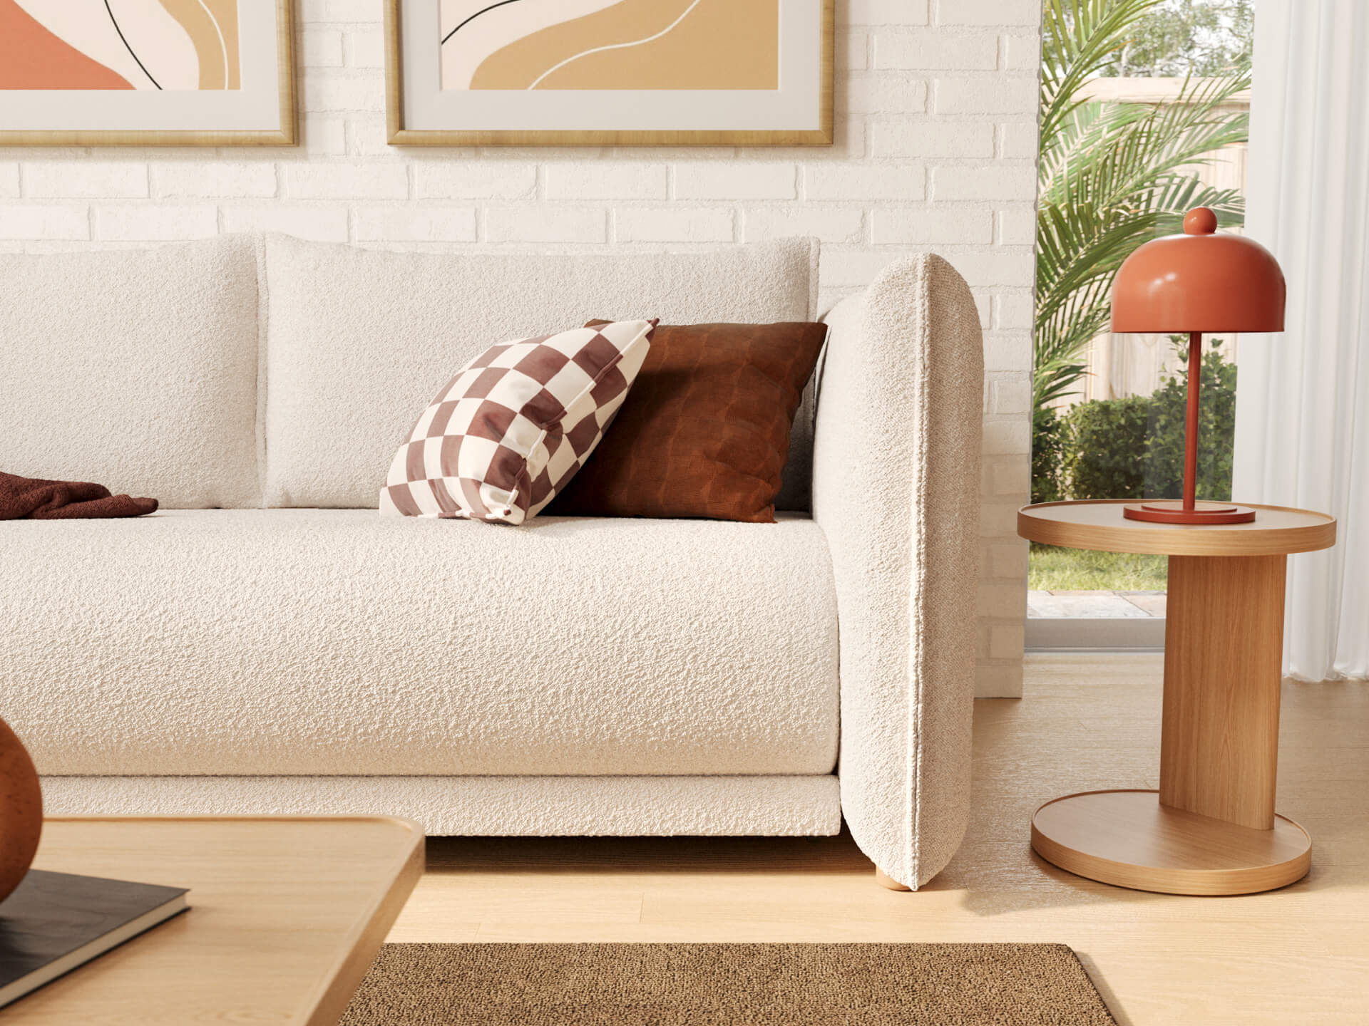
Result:
<svg viewBox="0 0 1369 1026"><path fill-rule="evenodd" d="M486 57L471 89L778 89L779 0L623 0Z"/></svg>

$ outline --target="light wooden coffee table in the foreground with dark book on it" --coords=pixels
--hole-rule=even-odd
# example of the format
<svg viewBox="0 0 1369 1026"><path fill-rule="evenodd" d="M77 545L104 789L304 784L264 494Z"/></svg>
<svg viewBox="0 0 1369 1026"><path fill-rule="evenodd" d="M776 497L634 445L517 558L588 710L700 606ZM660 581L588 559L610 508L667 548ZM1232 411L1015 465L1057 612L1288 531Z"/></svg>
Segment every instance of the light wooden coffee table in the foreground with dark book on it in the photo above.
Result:
<svg viewBox="0 0 1369 1026"><path fill-rule="evenodd" d="M62 818L38 869L190 888L190 910L0 1011L5 1026L337 1023L423 873L387 818Z"/></svg>

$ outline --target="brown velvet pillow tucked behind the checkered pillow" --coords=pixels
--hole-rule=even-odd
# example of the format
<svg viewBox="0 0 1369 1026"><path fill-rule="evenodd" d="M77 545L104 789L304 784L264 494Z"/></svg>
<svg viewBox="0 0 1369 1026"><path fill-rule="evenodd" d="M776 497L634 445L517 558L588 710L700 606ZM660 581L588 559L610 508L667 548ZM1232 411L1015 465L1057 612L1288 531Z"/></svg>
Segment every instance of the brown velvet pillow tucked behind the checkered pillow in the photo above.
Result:
<svg viewBox="0 0 1369 1026"><path fill-rule="evenodd" d="M657 327L613 425L546 512L773 523L790 425L826 338L826 324L808 323Z"/></svg>

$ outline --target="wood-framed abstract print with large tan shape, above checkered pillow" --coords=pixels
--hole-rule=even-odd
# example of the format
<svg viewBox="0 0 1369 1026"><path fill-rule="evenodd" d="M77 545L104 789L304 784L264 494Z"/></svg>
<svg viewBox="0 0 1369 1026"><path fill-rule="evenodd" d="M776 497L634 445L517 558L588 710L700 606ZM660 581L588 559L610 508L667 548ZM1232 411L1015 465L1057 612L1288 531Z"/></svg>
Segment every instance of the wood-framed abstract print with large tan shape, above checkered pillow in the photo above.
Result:
<svg viewBox="0 0 1369 1026"><path fill-rule="evenodd" d="M393 145L824 146L835 0L385 0Z"/></svg>

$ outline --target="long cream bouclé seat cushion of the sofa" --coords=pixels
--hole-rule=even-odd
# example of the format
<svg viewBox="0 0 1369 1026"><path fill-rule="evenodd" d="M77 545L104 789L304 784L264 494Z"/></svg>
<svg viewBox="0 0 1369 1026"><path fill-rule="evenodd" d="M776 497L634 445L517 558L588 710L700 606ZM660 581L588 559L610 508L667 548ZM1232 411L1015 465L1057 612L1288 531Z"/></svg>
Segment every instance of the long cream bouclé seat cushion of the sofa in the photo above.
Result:
<svg viewBox="0 0 1369 1026"><path fill-rule="evenodd" d="M374 510L0 523L0 707L45 774L817 774L827 543Z"/></svg>

